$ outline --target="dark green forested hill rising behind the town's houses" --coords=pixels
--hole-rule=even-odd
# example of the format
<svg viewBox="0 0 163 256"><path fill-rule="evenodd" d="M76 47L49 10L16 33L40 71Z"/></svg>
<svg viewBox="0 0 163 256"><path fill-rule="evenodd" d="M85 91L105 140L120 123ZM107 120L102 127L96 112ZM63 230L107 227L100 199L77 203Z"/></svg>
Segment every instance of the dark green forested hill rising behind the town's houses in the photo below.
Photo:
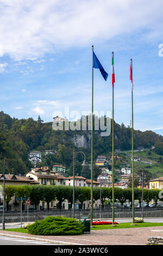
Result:
<svg viewBox="0 0 163 256"><path fill-rule="evenodd" d="M100 133L101 131L95 131L94 157L111 152L111 135L101 137ZM43 123L40 118L37 121L33 118L19 120L1 111L0 161L5 156L7 172L23 174L32 167L28 160L30 150L44 153L45 150L55 149L57 153L47 157L47 164L64 164L69 168L74 147L84 151L87 160L90 161L90 135L90 131L54 131L52 123ZM163 137L152 131L134 131L134 149L151 148L156 142L163 143ZM115 123L115 149L131 149L130 127Z"/></svg>

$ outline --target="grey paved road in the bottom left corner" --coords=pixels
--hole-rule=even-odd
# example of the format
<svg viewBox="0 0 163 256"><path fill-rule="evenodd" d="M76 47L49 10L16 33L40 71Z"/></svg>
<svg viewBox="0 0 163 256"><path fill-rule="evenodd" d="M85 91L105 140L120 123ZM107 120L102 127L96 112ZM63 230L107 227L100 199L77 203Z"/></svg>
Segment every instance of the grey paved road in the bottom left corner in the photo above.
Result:
<svg viewBox="0 0 163 256"><path fill-rule="evenodd" d="M54 245L54 243L0 236L0 246L1 245Z"/></svg>

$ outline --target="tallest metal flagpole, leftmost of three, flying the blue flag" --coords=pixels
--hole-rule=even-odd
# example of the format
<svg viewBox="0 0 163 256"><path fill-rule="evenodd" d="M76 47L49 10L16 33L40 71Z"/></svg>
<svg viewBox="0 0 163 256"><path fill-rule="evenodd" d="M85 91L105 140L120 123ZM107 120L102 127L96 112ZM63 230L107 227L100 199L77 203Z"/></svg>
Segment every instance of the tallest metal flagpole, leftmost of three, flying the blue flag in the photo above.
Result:
<svg viewBox="0 0 163 256"><path fill-rule="evenodd" d="M92 130L91 130L91 225L93 222L93 45L92 45Z"/></svg>

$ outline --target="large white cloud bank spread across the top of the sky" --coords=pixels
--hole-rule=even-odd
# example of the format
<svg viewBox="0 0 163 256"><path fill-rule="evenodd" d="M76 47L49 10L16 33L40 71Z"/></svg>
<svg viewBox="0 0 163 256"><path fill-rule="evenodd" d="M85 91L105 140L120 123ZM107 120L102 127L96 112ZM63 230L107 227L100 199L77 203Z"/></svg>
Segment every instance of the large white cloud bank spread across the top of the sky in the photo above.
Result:
<svg viewBox="0 0 163 256"><path fill-rule="evenodd" d="M73 3L73 4L72 4ZM60 47L91 45L146 30L162 36L159 0L0 0L3 54L36 60Z"/></svg>

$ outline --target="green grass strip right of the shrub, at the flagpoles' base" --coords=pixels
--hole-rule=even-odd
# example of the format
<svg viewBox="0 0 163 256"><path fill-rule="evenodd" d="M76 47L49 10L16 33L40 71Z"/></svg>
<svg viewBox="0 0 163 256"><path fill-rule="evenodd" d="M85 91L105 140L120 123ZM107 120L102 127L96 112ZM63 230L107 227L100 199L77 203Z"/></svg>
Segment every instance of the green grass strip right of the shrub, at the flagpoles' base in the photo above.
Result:
<svg viewBox="0 0 163 256"><path fill-rule="evenodd" d="M158 227L162 226L163 223L152 223L152 222L143 222L143 223L135 223L136 225L131 225L129 223L120 223L117 224L116 227L112 227L112 225L95 225L95 228L91 228L91 230L98 230L98 229L117 229L117 228L144 228L144 227Z"/></svg>

